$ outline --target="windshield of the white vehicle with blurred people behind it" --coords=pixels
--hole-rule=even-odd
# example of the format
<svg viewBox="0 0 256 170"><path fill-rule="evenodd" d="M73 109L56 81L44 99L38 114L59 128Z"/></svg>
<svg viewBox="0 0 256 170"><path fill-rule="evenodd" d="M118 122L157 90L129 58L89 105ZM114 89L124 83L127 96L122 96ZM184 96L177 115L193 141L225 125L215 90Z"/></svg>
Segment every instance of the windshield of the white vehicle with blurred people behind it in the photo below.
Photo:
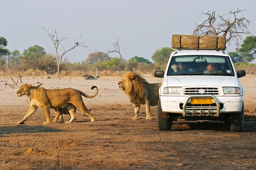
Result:
<svg viewBox="0 0 256 170"><path fill-rule="evenodd" d="M173 56L167 76L178 75L234 76L234 71L226 56Z"/></svg>

